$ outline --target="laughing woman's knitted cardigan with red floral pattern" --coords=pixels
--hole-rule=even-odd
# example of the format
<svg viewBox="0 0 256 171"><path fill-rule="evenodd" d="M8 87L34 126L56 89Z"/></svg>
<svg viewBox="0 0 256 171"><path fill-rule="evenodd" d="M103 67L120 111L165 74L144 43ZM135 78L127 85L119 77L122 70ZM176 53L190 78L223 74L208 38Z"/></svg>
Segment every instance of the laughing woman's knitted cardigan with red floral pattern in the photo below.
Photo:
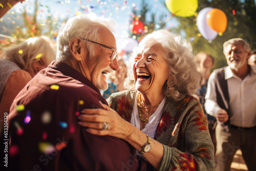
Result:
<svg viewBox="0 0 256 171"><path fill-rule="evenodd" d="M136 90L112 94L108 103L131 121ZM159 170L214 170L214 146L200 102L193 96L180 101L166 98L155 140L164 146Z"/></svg>

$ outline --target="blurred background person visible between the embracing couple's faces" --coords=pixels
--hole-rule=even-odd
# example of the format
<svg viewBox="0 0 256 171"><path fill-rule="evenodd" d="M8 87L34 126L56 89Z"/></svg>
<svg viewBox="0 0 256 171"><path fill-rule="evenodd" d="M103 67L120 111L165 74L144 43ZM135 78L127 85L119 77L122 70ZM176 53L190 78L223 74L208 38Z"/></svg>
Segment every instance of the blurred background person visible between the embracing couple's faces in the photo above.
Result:
<svg viewBox="0 0 256 171"><path fill-rule="evenodd" d="M113 73L108 74L109 88L105 91L101 91L102 96L107 99L112 93L117 93L126 90L124 87L124 80L127 77L126 65L123 58L118 58L119 69Z"/></svg>

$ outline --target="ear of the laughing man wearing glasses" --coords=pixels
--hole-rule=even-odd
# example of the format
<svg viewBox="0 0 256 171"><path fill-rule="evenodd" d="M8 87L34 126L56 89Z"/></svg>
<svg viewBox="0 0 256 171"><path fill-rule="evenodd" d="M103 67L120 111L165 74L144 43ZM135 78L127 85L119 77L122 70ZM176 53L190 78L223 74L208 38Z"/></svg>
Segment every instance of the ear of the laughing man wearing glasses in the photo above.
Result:
<svg viewBox="0 0 256 171"><path fill-rule="evenodd" d="M82 60L83 52L81 49L83 49L82 46L82 40L79 37L75 37L70 40L69 49L71 55L78 61Z"/></svg>

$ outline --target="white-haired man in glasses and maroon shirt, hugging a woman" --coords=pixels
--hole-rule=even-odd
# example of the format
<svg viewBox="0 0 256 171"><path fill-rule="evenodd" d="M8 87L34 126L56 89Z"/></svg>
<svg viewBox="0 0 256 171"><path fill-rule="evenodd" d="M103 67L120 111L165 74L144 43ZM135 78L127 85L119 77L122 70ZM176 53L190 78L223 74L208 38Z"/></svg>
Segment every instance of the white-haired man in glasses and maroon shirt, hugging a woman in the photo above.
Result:
<svg viewBox="0 0 256 171"><path fill-rule="evenodd" d="M95 136L81 127L82 109L107 104L105 74L118 69L111 18L94 13L70 18L59 29L57 61L39 72L15 98L8 119L10 170L138 170L126 141ZM99 102L100 101L100 102ZM99 130L111 129L102 122Z"/></svg>

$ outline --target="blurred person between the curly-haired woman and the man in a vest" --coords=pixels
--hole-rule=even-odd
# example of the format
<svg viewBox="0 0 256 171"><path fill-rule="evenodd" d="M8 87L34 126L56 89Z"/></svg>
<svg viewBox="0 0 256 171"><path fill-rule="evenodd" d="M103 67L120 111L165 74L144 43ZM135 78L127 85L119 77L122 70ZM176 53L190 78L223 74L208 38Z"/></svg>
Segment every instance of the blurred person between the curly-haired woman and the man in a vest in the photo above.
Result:
<svg viewBox="0 0 256 171"><path fill-rule="evenodd" d="M210 132L210 137L212 140L212 143L214 143L214 148L216 149L216 137L215 137L215 126L216 126L216 118L213 116L210 116L206 113L204 108L205 103L205 94L207 91L207 83L208 78L211 74L211 69L214 66L214 57L206 52L199 52L195 55L194 60L196 61L198 65L198 71L203 73L202 83L200 88L197 90L196 94L194 95L197 97L198 100L200 100L200 103L202 104L202 108L204 110L204 115L208 120L208 128Z"/></svg>

